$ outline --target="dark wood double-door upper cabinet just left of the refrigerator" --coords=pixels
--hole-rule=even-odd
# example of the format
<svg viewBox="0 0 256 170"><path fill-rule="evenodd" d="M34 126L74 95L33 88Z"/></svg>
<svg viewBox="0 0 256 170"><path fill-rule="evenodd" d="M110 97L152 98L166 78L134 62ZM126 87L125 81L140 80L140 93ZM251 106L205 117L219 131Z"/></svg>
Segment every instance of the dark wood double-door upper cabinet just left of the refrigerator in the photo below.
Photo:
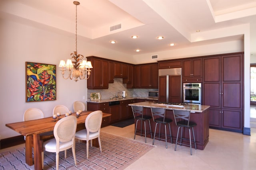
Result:
<svg viewBox="0 0 256 170"><path fill-rule="evenodd" d="M140 65L140 88L158 88L158 64Z"/></svg>

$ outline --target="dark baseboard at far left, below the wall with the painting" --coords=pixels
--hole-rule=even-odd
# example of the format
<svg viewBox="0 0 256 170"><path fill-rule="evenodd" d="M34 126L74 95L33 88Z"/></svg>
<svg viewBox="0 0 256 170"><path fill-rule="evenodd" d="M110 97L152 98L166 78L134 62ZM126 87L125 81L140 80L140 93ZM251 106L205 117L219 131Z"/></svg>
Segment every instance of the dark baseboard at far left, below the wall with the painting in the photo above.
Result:
<svg viewBox="0 0 256 170"><path fill-rule="evenodd" d="M22 143L25 143L23 135L19 135L19 136L15 136L15 137L9 137L9 138L6 138L6 139L1 139L1 141L0 141L0 147L1 148L0 149L13 147L13 146L16 146L16 145L20 145Z"/></svg>

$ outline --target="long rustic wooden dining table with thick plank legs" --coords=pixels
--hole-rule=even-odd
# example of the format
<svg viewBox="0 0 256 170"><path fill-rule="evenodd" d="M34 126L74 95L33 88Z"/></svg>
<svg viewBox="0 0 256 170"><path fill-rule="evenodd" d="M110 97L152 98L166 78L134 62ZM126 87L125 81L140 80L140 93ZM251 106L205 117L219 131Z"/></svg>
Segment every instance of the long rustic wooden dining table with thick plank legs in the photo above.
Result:
<svg viewBox="0 0 256 170"><path fill-rule="evenodd" d="M84 123L86 117L92 111L82 111L79 117L77 117L77 131L84 129ZM72 113L71 115L76 116L76 113ZM102 119L106 117L110 117L111 114L103 113ZM60 119L65 117L65 115L60 115ZM44 133L48 133L53 131L55 124L59 119L53 119L52 117L46 117L42 119L30 120L30 121L22 121L16 123L8 123L6 127L13 129L14 131L20 133L21 135L26 136L25 143L25 155L26 155L26 164L29 166L33 165L33 157L32 157L32 147L34 147L34 169L42 170L42 145L43 141L41 139L41 135Z"/></svg>

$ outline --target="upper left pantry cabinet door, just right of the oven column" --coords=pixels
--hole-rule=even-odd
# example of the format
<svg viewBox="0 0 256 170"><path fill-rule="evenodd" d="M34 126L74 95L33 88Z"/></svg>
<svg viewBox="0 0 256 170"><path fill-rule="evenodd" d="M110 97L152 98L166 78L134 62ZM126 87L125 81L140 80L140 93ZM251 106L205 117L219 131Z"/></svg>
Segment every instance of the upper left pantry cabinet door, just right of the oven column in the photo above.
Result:
<svg viewBox="0 0 256 170"><path fill-rule="evenodd" d="M209 57L203 59L204 82L220 82L220 57Z"/></svg>

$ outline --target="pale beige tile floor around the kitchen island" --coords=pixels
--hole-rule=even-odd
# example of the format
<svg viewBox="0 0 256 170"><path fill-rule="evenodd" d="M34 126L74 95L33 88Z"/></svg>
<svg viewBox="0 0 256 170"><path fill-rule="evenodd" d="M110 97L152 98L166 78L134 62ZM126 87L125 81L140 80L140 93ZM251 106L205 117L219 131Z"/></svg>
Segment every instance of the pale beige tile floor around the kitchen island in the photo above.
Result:
<svg viewBox="0 0 256 170"><path fill-rule="evenodd" d="M134 125L124 128L108 126L102 128L106 133L112 133L129 139L134 137ZM144 137L136 135L136 140L144 142ZM152 139L147 138L152 144ZM209 143L204 150L192 149L168 143L155 141L156 147L132 163L126 170L255 170L256 169L256 128L251 128L251 136L241 133L210 129ZM2 152L2 150L1 150Z"/></svg>

